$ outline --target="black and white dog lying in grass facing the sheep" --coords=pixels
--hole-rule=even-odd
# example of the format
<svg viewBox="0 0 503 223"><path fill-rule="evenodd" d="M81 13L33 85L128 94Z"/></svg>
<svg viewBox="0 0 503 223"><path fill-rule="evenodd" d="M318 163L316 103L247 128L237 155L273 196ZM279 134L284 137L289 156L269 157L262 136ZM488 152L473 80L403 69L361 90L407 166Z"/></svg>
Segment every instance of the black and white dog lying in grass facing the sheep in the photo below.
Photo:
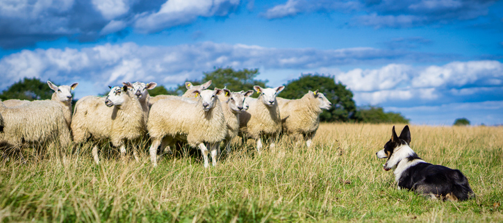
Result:
<svg viewBox="0 0 503 223"><path fill-rule="evenodd" d="M398 189L406 188L419 195L451 201L473 197L468 179L461 171L424 162L409 147L409 143L409 126L404 127L400 136L397 136L393 126L391 139L386 142L384 149L376 153L377 158L388 158L384 170L394 170Z"/></svg>

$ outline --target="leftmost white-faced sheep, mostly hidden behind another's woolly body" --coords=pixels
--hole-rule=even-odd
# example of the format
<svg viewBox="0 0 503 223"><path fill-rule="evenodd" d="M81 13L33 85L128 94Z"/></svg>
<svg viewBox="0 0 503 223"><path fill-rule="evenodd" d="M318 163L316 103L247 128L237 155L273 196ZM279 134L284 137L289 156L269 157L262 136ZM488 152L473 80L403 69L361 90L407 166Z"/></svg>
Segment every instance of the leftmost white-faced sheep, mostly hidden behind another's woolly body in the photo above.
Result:
<svg viewBox="0 0 503 223"><path fill-rule="evenodd" d="M60 104L63 113L65 114L65 120L69 128L70 122L72 122L72 90L75 90L79 83L72 83L72 85L55 85L51 81L47 81L47 85L54 92L51 95L51 101L55 101ZM22 104L29 103L28 100L10 99L3 101L3 104L7 107L19 106Z"/></svg>

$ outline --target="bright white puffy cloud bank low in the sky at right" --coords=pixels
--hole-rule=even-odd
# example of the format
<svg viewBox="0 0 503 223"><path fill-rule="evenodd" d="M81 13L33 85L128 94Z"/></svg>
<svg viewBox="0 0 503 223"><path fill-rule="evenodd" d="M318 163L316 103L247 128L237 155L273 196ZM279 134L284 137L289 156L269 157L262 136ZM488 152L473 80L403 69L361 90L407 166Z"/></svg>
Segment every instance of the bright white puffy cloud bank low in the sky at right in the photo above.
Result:
<svg viewBox="0 0 503 223"><path fill-rule="evenodd" d="M355 101L361 105L503 99L494 94L502 92L503 87L503 64L496 60L427 67L390 64L379 69L352 69L333 74L354 92Z"/></svg>

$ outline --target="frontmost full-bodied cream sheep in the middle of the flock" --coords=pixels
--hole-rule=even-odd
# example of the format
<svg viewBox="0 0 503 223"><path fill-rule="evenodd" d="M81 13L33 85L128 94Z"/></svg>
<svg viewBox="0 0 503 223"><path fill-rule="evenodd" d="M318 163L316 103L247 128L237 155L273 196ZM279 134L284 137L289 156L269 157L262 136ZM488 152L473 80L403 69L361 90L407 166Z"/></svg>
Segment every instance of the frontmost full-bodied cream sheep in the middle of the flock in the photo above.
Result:
<svg viewBox="0 0 503 223"><path fill-rule="evenodd" d="M195 90L197 101L163 99L157 101L150 110L147 129L152 139L149 149L150 159L157 166L157 148L161 141L171 147L175 140L183 140L190 147L199 147L208 164L208 144L213 165L217 162L217 147L227 133L226 122L217 94L222 90ZM161 148L162 150L163 148Z"/></svg>

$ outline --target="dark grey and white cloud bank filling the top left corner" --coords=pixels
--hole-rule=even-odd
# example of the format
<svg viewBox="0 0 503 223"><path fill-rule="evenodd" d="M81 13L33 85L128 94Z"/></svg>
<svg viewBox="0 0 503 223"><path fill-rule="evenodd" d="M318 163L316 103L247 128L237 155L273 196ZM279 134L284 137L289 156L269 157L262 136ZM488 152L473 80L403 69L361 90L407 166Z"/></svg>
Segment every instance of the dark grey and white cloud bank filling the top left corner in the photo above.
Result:
<svg viewBox="0 0 503 223"><path fill-rule="evenodd" d="M19 0L0 1L0 47L16 49L66 37L94 41L131 26L156 32L197 17L224 17L239 0Z"/></svg>

